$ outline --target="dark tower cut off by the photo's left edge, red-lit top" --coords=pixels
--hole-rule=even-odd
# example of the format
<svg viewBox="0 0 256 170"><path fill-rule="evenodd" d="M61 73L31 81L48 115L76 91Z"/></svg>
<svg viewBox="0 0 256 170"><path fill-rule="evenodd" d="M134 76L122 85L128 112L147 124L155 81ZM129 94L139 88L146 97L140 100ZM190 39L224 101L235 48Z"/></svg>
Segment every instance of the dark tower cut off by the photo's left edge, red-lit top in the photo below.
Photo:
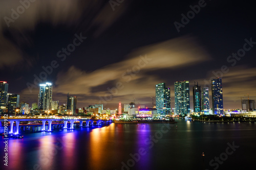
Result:
<svg viewBox="0 0 256 170"><path fill-rule="evenodd" d="M7 92L8 92L7 82L0 81L0 113L6 112Z"/></svg>

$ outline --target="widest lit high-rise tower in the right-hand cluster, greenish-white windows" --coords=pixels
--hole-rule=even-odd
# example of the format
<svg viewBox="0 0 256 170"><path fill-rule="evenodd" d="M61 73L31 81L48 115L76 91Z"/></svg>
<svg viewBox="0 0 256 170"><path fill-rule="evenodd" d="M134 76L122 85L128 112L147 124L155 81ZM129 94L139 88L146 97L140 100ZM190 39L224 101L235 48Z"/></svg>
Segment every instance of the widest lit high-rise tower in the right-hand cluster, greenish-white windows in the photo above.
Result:
<svg viewBox="0 0 256 170"><path fill-rule="evenodd" d="M175 82L174 83L174 96L175 96L175 114L182 116L190 112L189 100L189 82Z"/></svg>

